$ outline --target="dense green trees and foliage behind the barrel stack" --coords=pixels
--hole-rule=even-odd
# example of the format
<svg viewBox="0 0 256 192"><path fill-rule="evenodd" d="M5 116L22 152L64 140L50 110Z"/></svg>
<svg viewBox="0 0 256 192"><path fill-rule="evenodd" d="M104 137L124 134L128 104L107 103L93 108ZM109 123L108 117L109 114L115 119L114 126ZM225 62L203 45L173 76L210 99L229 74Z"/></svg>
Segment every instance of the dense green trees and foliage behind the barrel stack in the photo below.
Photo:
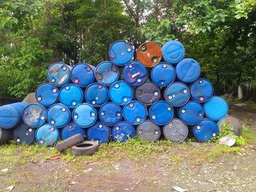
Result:
<svg viewBox="0 0 256 192"><path fill-rule="evenodd" d="M0 97L34 91L56 61L96 66L118 39L178 39L219 93L255 84L255 0L0 0Z"/></svg>

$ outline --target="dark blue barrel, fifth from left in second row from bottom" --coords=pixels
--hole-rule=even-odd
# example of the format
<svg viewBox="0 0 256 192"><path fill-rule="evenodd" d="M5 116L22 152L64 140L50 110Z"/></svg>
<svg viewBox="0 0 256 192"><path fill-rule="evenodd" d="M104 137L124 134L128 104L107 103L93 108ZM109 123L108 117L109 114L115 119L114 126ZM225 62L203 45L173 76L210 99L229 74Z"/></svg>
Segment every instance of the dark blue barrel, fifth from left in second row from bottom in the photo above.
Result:
<svg viewBox="0 0 256 192"><path fill-rule="evenodd" d="M99 109L99 120L107 126L114 126L123 118L123 110L118 104L106 103Z"/></svg>

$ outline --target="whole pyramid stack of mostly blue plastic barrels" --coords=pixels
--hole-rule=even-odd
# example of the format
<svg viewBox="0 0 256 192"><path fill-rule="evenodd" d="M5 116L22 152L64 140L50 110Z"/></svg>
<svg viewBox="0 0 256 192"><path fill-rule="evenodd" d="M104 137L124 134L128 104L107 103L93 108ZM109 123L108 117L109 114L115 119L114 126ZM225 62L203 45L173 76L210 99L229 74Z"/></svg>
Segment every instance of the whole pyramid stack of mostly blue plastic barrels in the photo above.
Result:
<svg viewBox="0 0 256 192"><path fill-rule="evenodd" d="M181 42L167 42L162 49L145 42L132 61L132 46L120 40L108 54L110 61L97 67L52 64L49 82L35 91L37 103L0 107L0 141L13 130L17 143L36 140L47 146L75 134L102 143L136 135L153 142L161 134L172 142L188 135L206 142L217 137L224 123L241 134L239 120L227 116L227 102L213 96L210 81L199 78L200 65L184 58Z"/></svg>

